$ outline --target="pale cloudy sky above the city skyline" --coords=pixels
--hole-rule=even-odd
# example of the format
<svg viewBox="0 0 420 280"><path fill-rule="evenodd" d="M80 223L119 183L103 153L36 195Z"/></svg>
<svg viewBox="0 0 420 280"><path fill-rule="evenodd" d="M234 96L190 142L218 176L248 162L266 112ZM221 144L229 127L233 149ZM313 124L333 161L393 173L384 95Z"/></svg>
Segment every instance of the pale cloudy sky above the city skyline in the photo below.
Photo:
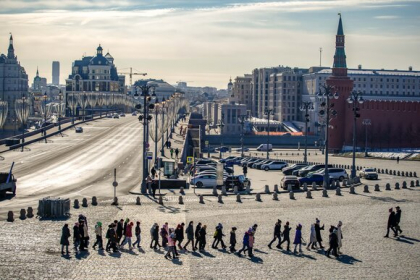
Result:
<svg viewBox="0 0 420 280"><path fill-rule="evenodd" d="M12 33L30 84L37 67L51 82L54 60L65 83L101 44L119 72L226 88L255 68L319 66L320 48L332 66L341 13L349 68L420 70L419 12L420 0L0 0L0 53Z"/></svg>

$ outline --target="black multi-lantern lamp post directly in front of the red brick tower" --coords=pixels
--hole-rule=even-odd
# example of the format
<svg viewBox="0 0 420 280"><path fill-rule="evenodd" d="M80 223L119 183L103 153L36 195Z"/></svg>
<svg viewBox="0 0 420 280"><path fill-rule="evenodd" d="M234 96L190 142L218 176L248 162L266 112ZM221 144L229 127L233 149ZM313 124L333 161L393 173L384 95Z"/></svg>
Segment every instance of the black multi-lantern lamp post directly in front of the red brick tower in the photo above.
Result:
<svg viewBox="0 0 420 280"><path fill-rule="evenodd" d="M320 92L317 94L321 102L321 110L318 112L325 122L325 175L324 175L324 188L326 189L329 184L328 172L328 130L330 126L330 118L337 116L337 111L333 109L334 104L330 104L331 99L338 99L338 93L333 92L334 87L330 85L321 85Z"/></svg>

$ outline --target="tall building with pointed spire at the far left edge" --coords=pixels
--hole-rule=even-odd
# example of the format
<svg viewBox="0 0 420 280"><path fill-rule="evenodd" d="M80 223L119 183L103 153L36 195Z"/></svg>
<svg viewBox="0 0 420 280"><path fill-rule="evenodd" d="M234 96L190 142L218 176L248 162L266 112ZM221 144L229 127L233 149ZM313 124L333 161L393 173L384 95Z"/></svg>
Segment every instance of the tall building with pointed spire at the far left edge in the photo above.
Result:
<svg viewBox="0 0 420 280"><path fill-rule="evenodd" d="M16 131L21 126L15 103L23 96L28 98L28 75L15 55L13 37L10 35L7 55L0 54L0 99L7 102L4 130Z"/></svg>

